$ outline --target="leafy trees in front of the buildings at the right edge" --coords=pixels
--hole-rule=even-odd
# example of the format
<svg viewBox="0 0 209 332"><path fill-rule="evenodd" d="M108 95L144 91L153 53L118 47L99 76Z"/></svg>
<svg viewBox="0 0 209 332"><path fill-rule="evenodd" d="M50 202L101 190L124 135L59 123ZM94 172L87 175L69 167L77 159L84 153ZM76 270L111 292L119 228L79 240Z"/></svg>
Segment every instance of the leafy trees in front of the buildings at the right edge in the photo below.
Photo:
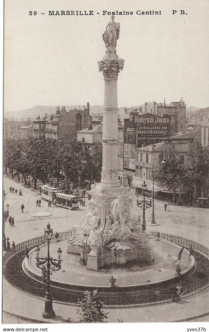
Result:
<svg viewBox="0 0 209 332"><path fill-rule="evenodd" d="M183 188L192 197L207 197L209 190L209 148L194 141L188 151L185 162L181 160L175 144L163 151L163 160L154 175L155 181L162 187L175 193L179 189L179 199Z"/></svg>

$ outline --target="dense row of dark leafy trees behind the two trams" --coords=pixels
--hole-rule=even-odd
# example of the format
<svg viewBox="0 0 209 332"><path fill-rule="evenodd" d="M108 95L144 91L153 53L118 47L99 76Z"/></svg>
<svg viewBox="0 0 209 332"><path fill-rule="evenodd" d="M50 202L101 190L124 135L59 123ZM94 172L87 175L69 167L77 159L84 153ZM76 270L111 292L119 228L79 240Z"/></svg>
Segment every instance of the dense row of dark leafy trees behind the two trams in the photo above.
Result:
<svg viewBox="0 0 209 332"><path fill-rule="evenodd" d="M59 186L60 179L65 177L69 182L82 185L85 180L100 181L102 168L102 146L95 145L93 154L90 146L80 142L28 139L4 140L3 163L5 173L10 170L12 178L20 174L27 184L30 175L36 189L37 180L46 183L47 177L56 177Z"/></svg>

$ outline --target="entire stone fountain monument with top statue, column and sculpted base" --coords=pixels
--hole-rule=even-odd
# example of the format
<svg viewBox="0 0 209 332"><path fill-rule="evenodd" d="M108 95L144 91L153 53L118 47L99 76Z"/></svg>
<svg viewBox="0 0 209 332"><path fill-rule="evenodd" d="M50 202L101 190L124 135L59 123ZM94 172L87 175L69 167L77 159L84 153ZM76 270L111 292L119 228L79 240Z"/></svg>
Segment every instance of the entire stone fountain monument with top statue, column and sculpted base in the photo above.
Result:
<svg viewBox="0 0 209 332"><path fill-rule="evenodd" d="M117 79L123 69L123 59L116 55L116 41L119 38L119 23L109 22L103 34L106 53L99 61L99 71L102 71L105 81L104 112L103 112L103 165L99 185L92 185L92 199L89 210L83 218L77 234L68 244L68 252L73 252L74 246L90 246L86 251L80 251L81 259L87 263L88 269L98 270L114 263L121 265L129 261L150 263L153 258L153 248L146 234L142 238L137 222L131 218L130 188L121 187L118 177L118 106Z"/></svg>

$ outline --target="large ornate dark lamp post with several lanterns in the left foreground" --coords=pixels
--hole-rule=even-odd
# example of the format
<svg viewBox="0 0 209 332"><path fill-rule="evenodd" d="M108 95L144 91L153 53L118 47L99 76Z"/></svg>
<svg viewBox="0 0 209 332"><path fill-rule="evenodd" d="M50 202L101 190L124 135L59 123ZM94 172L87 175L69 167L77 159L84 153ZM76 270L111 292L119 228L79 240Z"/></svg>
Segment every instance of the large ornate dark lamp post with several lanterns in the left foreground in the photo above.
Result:
<svg viewBox="0 0 209 332"><path fill-rule="evenodd" d="M61 269L61 255L62 250L59 248L57 251L58 259L54 259L50 257L50 251L49 251L49 244L52 239L53 230L50 228L50 223L47 224L47 229L44 229L45 238L48 244L48 253L47 257L39 257L40 248L36 248L36 266L42 270L42 274L44 277L44 280L46 280L46 295L45 295L45 310L42 314L44 318L53 318L55 316L55 312L52 307L52 293L50 290L50 275L52 275L53 272L59 271Z"/></svg>

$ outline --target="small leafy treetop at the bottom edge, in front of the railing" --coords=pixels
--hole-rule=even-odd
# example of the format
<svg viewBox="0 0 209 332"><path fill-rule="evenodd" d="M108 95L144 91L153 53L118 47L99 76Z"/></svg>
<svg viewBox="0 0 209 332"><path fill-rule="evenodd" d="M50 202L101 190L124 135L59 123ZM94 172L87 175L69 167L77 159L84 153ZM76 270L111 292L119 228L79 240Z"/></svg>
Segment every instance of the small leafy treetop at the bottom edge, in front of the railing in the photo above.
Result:
<svg viewBox="0 0 209 332"><path fill-rule="evenodd" d="M108 312L102 310L103 303L99 299L99 293L97 290L90 292L86 290L84 292L84 297L80 304L80 310L78 310L83 323L102 323L105 318L108 318Z"/></svg>

